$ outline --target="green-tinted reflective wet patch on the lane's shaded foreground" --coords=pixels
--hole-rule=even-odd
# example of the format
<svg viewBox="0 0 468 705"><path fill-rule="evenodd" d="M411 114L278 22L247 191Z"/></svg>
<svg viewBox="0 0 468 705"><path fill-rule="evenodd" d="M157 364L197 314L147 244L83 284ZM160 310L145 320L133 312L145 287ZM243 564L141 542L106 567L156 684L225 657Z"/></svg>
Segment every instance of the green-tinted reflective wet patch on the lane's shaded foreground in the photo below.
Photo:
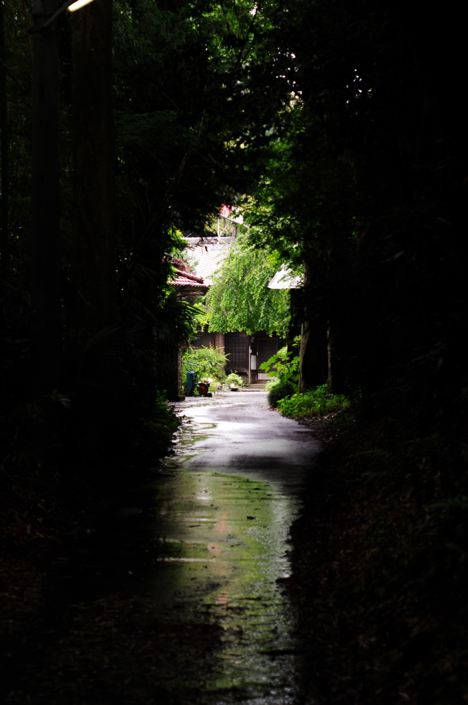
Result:
<svg viewBox="0 0 468 705"><path fill-rule="evenodd" d="M197 441L214 424L185 423L176 454L161 467L155 522L159 562L152 580L158 619L221 627L211 675L197 703L297 702L293 610L281 589L288 532L299 498L255 473L199 470ZM197 458L197 470L191 470ZM166 684L169 686L169 684Z"/></svg>

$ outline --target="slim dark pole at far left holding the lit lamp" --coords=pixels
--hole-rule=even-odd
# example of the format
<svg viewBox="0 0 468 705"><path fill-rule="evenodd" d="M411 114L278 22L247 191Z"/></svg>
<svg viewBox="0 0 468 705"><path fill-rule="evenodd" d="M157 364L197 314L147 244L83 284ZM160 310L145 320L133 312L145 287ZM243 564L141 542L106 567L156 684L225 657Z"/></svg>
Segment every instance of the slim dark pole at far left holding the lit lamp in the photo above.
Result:
<svg viewBox="0 0 468 705"><path fill-rule="evenodd" d="M35 0L35 28L58 0ZM32 67L31 307L32 378L37 400L61 381L58 257L58 37L54 24L35 32Z"/></svg>

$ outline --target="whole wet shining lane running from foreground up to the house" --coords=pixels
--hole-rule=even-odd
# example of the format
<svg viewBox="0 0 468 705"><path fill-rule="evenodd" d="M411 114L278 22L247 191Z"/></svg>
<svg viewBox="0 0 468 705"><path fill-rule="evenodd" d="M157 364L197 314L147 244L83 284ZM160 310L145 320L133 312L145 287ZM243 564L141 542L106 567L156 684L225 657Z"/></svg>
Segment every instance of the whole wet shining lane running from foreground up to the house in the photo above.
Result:
<svg viewBox="0 0 468 705"><path fill-rule="evenodd" d="M319 443L269 410L264 392L187 399L176 412L175 453L156 483L160 553L150 592L159 619L221 634L204 681L187 668L177 687L196 688L207 705L297 704L295 611L282 584ZM172 681L168 671L164 687Z"/></svg>

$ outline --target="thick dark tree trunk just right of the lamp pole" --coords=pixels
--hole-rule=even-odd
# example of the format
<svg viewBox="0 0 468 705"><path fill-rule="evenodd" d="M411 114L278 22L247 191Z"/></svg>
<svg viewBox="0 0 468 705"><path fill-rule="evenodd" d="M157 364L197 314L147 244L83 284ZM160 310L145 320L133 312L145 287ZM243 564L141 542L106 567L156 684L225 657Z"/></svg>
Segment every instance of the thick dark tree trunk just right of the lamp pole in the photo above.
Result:
<svg viewBox="0 0 468 705"><path fill-rule="evenodd" d="M112 0L73 18L74 222L70 312L80 447L116 446L116 193L112 109Z"/></svg>

